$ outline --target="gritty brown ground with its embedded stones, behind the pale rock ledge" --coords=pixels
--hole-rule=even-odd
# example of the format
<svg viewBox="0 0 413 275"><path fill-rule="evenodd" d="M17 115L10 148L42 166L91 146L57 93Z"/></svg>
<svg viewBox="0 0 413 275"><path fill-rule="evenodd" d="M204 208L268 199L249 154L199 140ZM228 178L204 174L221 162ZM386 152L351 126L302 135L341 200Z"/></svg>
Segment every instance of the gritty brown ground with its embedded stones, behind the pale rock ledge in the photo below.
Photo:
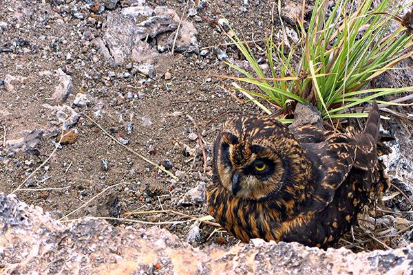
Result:
<svg viewBox="0 0 413 275"><path fill-rule="evenodd" d="M217 77L233 74L223 61L245 64L220 19L262 46L271 25L275 33L280 25L272 7L263 0L3 0L0 192L13 192L55 219L91 215L118 225L87 219L74 227L96 221L126 232L126 225L158 225L195 246L236 243L213 223L195 221L207 215L204 188L220 124L237 113L261 113ZM300 7L282 5L290 39ZM410 66L412 60L402 65ZM413 85L411 76L412 69L401 69L372 85ZM392 117L383 127L396 136L386 160L390 175L412 199L412 124ZM387 206L411 210L400 192ZM396 215L405 222L390 219L407 228L403 240L412 236L408 214Z"/></svg>

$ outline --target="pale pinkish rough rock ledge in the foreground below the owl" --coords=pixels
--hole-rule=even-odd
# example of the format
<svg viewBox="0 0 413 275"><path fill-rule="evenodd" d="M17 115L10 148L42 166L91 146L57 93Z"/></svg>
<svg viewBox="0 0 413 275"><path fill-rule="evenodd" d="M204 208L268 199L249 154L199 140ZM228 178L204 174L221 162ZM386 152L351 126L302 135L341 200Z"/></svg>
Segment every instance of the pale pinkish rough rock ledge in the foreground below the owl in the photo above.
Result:
<svg viewBox="0 0 413 275"><path fill-rule="evenodd" d="M361 252L298 243L203 250L157 227L114 228L103 219L63 225L41 208L0 195L1 274L412 274L413 245Z"/></svg>

